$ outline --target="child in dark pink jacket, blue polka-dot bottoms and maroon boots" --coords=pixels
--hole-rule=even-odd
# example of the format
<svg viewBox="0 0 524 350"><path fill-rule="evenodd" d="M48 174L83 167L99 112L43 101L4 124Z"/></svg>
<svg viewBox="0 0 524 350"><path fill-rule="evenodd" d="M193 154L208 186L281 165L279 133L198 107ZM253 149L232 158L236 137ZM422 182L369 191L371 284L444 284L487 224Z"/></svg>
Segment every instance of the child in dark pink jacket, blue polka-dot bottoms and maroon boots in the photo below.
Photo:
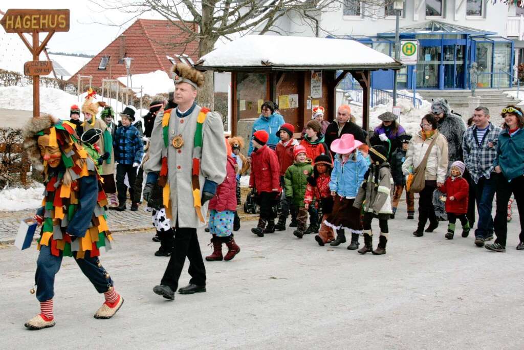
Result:
<svg viewBox="0 0 524 350"><path fill-rule="evenodd" d="M213 235L213 254L205 257L207 261L222 260L222 243L225 243L228 249L224 260L229 261L240 253L240 247L237 246L232 233L236 213L236 162L231 156L231 146L227 140L226 148L227 174L216 188L215 196L209 201L209 231Z"/></svg>

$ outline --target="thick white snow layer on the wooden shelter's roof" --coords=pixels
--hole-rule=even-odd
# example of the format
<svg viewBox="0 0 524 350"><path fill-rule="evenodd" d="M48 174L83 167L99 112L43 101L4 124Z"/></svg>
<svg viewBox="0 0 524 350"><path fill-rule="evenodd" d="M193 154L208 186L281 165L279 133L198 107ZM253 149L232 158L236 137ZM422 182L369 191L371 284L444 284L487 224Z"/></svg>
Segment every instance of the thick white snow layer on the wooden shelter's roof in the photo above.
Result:
<svg viewBox="0 0 524 350"><path fill-rule="evenodd" d="M354 40L246 35L204 55L201 69L379 69L401 64Z"/></svg>

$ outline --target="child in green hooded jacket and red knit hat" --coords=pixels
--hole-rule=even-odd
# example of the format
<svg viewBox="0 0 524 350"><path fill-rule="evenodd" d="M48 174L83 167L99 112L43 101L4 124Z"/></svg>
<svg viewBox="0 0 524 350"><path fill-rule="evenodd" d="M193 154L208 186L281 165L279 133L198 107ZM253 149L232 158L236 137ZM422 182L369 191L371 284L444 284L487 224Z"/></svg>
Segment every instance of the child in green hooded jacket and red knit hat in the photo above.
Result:
<svg viewBox="0 0 524 350"><path fill-rule="evenodd" d="M304 206L305 188L308 186L308 177L313 173L313 166L311 160L305 155L304 146L295 146L293 157L294 163L286 170L284 183L288 202L299 208L298 226L293 235L302 238L308 222L308 210Z"/></svg>

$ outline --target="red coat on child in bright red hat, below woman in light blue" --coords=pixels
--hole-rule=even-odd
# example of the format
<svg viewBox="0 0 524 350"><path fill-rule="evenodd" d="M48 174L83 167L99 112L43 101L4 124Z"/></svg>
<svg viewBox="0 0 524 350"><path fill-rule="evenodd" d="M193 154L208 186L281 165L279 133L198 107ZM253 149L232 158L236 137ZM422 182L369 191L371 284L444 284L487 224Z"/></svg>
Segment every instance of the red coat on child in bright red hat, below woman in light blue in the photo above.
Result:
<svg viewBox="0 0 524 350"><path fill-rule="evenodd" d="M271 192L272 189L280 191L280 166L277 154L266 145L255 149L251 154L249 187L255 187L257 193Z"/></svg>

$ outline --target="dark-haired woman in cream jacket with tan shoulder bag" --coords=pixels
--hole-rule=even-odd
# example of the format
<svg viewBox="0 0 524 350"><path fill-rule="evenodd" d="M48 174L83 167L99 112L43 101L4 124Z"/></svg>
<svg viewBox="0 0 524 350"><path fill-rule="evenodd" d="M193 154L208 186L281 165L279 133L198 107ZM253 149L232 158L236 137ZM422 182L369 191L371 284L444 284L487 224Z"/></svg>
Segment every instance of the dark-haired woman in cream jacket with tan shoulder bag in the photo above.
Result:
<svg viewBox="0 0 524 350"><path fill-rule="evenodd" d="M429 146L435 140L428 155L424 189L419 193L419 223L417 230L413 232L413 235L416 237L424 235L424 227L428 218L430 224L425 232L433 232L439 225L439 222L436 220L432 199L435 189L441 187L446 179L448 151L447 140L437 129L437 123L434 114L424 115L420 123L421 130L411 139L408 152L406 153L406 160L402 164L402 172L404 174L412 173L413 169L420 165Z"/></svg>

